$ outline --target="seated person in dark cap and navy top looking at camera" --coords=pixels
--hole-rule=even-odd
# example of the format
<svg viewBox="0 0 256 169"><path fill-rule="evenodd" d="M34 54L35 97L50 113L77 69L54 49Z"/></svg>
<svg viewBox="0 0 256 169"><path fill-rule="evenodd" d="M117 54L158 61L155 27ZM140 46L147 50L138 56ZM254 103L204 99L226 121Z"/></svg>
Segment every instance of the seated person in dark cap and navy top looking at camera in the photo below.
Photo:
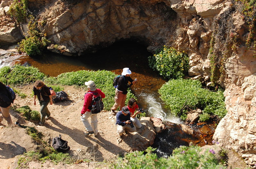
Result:
<svg viewBox="0 0 256 169"><path fill-rule="evenodd" d="M132 124L131 113L127 106L123 107L121 111L117 112L116 125L119 138L121 138L121 136L123 135L124 130L127 130L129 132L136 131L136 127L134 127Z"/></svg>

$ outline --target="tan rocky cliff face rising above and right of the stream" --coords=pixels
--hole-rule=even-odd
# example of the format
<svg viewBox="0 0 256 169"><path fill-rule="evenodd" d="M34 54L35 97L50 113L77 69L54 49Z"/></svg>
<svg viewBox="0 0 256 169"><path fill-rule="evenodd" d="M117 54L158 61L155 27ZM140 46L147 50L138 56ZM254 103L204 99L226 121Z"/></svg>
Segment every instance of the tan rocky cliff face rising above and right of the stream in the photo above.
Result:
<svg viewBox="0 0 256 169"><path fill-rule="evenodd" d="M76 0L70 3L68 0L29 0L29 7L37 16L40 30L52 41L49 50L63 55L82 55L117 40L136 38L143 41L149 51L167 45L187 52L189 76L208 83L214 17L227 14L232 3L231 0ZM6 15L9 5L9 1L1 1L1 18L10 18ZM229 17L231 31L238 33L240 45L230 51L224 64L221 85L225 88L228 114L220 121L214 139L238 152L247 164L254 165L256 58L253 48L244 50L248 30L242 15L237 10ZM4 44L19 39L18 35L8 33L13 27L17 26L1 30L1 34L13 38L4 41L4 36L0 36Z"/></svg>

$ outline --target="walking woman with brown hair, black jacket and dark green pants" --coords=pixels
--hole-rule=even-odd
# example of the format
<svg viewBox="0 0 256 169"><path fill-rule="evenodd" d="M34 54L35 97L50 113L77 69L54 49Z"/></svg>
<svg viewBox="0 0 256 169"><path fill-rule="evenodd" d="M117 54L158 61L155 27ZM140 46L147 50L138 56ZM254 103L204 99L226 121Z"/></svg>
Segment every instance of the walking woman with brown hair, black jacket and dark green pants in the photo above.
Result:
<svg viewBox="0 0 256 169"><path fill-rule="evenodd" d="M39 125L42 126L45 123L45 119L47 120L51 116L51 113L49 112L47 105L49 104L49 102L52 105L52 95L49 87L44 85L44 82L42 82L41 80L37 80L35 82L33 91L34 91L34 105L36 105L36 96L37 96L39 104L41 106L40 107L41 121L39 122ZM45 116L47 117L45 118Z"/></svg>

